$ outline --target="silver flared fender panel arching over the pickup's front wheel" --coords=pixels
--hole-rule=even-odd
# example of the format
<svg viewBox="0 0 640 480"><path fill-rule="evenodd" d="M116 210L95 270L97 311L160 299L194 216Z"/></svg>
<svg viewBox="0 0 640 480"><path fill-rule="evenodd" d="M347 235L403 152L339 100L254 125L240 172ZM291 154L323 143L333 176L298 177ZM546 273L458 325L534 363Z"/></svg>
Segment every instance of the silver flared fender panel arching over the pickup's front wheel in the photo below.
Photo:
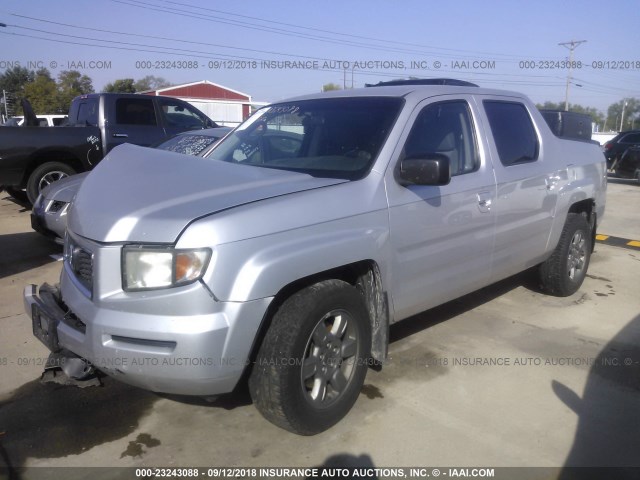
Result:
<svg viewBox="0 0 640 480"><path fill-rule="evenodd" d="M362 260L375 261L384 280L388 244L386 213L371 212L219 245L204 281L217 299L246 302L274 296L296 280Z"/></svg>

